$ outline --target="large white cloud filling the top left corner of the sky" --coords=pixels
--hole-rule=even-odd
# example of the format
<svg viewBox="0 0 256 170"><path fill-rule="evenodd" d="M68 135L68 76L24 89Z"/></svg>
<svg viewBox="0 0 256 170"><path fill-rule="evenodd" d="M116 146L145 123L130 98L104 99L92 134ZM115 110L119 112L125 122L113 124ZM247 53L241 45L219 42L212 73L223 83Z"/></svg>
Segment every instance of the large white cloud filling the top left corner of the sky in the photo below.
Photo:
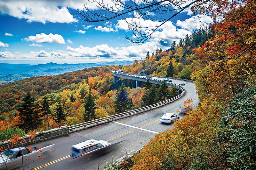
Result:
<svg viewBox="0 0 256 170"><path fill-rule="evenodd" d="M59 8L59 6L62 7ZM46 22L78 22L77 19L70 14L66 5L54 1L1 1L0 11L13 17L24 18L27 22L41 22L44 24Z"/></svg>

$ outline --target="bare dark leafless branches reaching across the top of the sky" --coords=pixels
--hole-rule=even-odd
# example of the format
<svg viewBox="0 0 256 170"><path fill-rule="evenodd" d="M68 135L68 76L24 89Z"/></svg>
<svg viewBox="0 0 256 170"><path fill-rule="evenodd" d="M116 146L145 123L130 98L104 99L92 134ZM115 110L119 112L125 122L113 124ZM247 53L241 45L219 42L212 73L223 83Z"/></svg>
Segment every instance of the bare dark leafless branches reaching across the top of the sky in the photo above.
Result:
<svg viewBox="0 0 256 170"><path fill-rule="evenodd" d="M184 10L207 4L210 1L215 0L111 0L109 4L104 3L103 0L89 0L91 4L96 5L99 9L91 10L86 4L82 11L77 11L76 16L85 22L102 22L123 18L128 25L128 29L133 32L132 38L128 35L125 35L125 38L133 43L143 44L162 25ZM140 19L156 22L156 25L141 25L139 19L134 18L132 12L136 12ZM131 18L131 15L133 18Z"/></svg>

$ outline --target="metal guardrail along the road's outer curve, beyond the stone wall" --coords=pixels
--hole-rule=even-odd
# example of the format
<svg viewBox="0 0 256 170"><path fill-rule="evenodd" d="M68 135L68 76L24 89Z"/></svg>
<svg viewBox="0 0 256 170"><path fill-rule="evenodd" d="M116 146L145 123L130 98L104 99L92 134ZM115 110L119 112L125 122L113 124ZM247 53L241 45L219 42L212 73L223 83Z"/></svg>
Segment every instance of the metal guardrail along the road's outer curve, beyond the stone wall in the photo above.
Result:
<svg viewBox="0 0 256 170"><path fill-rule="evenodd" d="M114 70L112 70L112 71L114 71ZM122 73L122 74L126 74L126 73ZM144 77L141 77L141 78L144 78ZM160 80L155 80L155 81L160 81ZM163 82L163 81L160 81L160 82ZM171 102L179 99L181 96L183 96L185 94L185 89L182 86L180 86L178 84L175 84L175 83L172 83L172 82L166 82L166 83L169 83L169 84L172 84L176 87L179 87L179 89L182 89L182 93L180 95L176 96L176 97L173 97L171 99L165 100L165 101L160 102L160 103L152 104L150 106L142 107L142 108L135 109L135 110L126 111L126 112L123 112L123 113L118 113L118 114L107 116L107 117L102 117L102 118L99 118L99 119L87 121L87 122L80 123L80 124L71 125L71 126L69 126L69 131L71 132L75 129L84 129L85 127L94 126L94 125L97 125L97 124L105 124L105 123L108 123L108 122L118 120L120 118L129 117L129 116L136 115L136 114L139 114L139 113L151 110L151 109L155 109L157 107L160 107L160 106L163 106L165 104L171 103Z"/></svg>

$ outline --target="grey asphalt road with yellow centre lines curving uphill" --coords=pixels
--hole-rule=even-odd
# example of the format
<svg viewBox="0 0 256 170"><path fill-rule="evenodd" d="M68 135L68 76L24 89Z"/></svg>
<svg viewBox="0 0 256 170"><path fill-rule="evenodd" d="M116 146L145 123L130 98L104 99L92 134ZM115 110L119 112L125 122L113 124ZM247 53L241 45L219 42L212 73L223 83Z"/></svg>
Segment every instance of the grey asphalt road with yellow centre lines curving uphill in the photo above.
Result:
<svg viewBox="0 0 256 170"><path fill-rule="evenodd" d="M163 80L163 78L157 79ZM172 80L172 82L176 84L186 83L186 81L180 80ZM42 147L55 144L56 150L51 154L44 155L42 161L34 162L29 169L38 170L43 167L45 170L103 169L106 162L112 162L112 158L116 160L132 150L138 150L147 144L150 138L155 138L157 133L172 129L172 124L161 124L159 122L160 117L164 113L177 113L176 110L179 109L180 105L183 105L183 101L187 98L192 99L194 106L197 106L198 97L195 84L189 82L183 88L186 91L184 96L170 104L132 117L34 144L34 146ZM114 145L105 153L95 153L92 156L71 159L71 146L88 139L106 140Z"/></svg>

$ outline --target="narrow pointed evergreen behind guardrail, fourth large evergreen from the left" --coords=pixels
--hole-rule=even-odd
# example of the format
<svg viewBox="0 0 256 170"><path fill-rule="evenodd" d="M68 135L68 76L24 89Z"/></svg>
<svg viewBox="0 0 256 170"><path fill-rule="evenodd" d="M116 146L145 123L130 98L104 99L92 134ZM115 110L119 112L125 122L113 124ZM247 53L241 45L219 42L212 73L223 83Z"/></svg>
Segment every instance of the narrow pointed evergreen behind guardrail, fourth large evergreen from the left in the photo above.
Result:
<svg viewBox="0 0 256 170"><path fill-rule="evenodd" d="M88 95L85 97L84 103L84 121L94 120L95 117L95 103L92 98L92 89L89 89Z"/></svg>

